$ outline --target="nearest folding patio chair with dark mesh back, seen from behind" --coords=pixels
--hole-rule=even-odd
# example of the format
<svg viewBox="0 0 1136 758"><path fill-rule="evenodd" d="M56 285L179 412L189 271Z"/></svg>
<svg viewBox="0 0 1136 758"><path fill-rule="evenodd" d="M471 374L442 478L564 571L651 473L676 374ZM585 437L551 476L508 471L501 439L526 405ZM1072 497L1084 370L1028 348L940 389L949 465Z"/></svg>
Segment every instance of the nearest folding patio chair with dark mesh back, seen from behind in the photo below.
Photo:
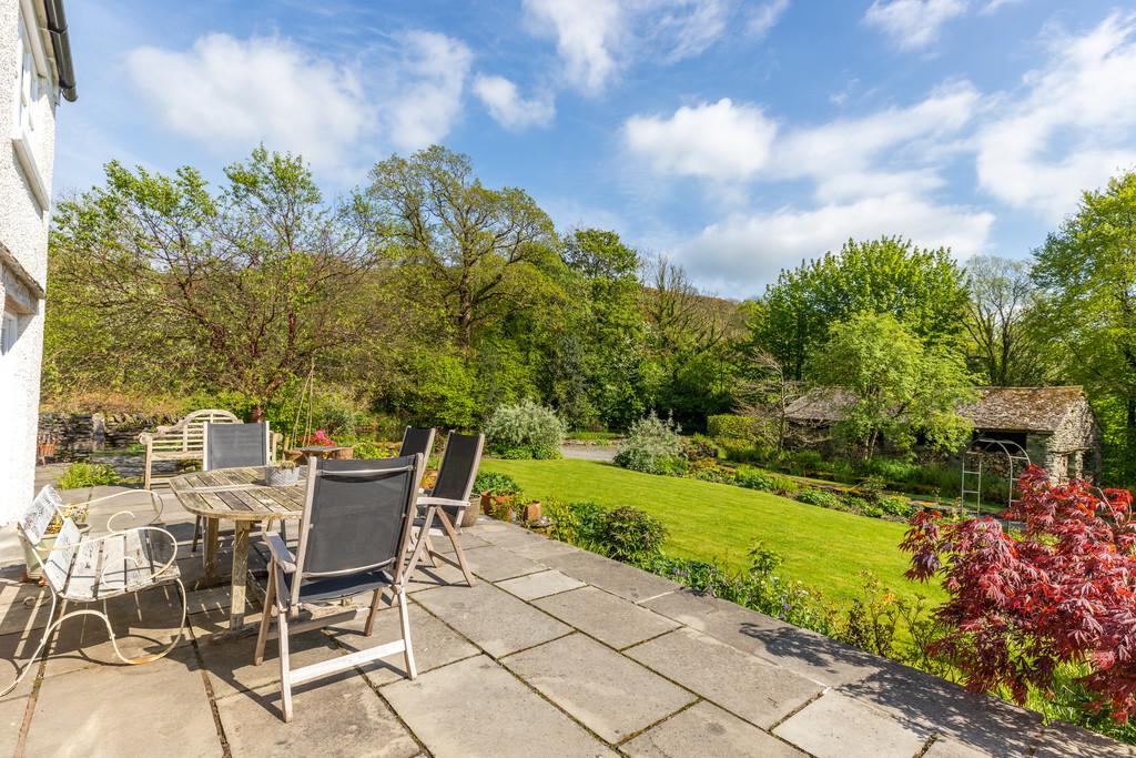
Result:
<svg viewBox="0 0 1136 758"><path fill-rule="evenodd" d="M253 664L264 663L265 645L279 640L281 698L284 720L292 720L292 686L360 664L401 652L407 675L415 678L410 617L404 578L415 499L425 461L420 455L383 460L308 459L308 495L300 520L299 549L289 550L276 532L262 532L272 552L265 613ZM292 669L289 635L354 618L348 610L318 616L319 606L354 594L371 593L365 633L375 625L379 598L392 592L400 619L400 639L368 650ZM317 611L302 619L301 611ZM272 619L276 628L272 628Z"/></svg>

